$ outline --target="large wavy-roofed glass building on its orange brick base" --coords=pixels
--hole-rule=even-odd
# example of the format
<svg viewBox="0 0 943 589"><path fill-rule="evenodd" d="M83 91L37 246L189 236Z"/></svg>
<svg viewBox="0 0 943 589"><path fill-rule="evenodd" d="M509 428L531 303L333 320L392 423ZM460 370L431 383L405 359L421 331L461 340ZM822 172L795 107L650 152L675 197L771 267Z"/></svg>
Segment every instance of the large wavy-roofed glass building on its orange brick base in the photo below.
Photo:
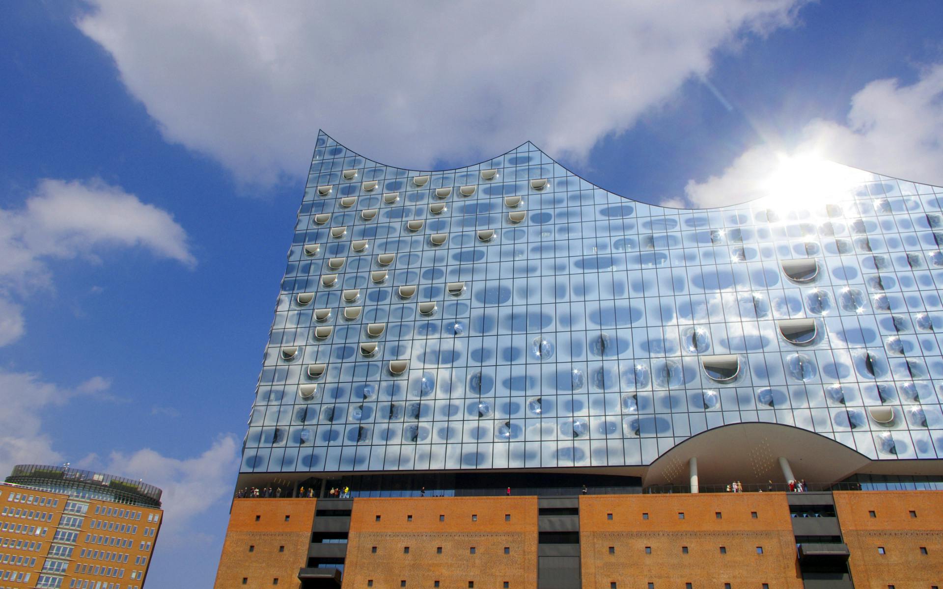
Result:
<svg viewBox="0 0 943 589"><path fill-rule="evenodd" d="M320 134L216 587L943 584L943 188L782 180L686 210Z"/></svg>

